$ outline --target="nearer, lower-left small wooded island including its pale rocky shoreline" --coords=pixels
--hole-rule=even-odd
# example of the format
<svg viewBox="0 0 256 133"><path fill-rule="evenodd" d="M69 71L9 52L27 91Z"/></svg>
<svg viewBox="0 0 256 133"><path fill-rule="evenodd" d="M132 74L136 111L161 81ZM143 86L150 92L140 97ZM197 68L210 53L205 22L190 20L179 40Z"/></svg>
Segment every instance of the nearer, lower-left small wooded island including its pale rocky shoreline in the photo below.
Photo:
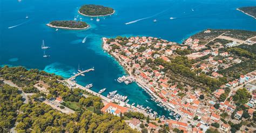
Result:
<svg viewBox="0 0 256 133"><path fill-rule="evenodd" d="M61 21L51 21L47 26L53 28L64 28L64 29L86 29L89 27L83 21L73 21L73 20L61 20Z"/></svg>

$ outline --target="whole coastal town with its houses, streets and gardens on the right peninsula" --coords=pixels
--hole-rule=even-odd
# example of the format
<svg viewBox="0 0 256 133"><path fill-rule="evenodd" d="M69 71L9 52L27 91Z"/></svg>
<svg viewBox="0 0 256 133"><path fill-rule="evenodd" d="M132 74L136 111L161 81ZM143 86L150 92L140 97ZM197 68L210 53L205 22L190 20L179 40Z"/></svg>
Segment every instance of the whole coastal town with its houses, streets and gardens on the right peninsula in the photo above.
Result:
<svg viewBox="0 0 256 133"><path fill-rule="evenodd" d="M207 35L211 32L220 31L209 29L203 33ZM254 60L253 54L237 54L238 51L234 51L234 47L252 46L256 36L252 33L248 38L239 40L225 36L228 33L230 31L221 31L205 43L201 43L197 38L192 39L194 37L192 36L181 45L146 36L131 38L118 36L115 39L103 38L103 48L115 57L127 73L134 77L137 84L151 93L156 101L160 101L168 109L181 115L179 121L163 121L169 123L170 128L187 132L198 130L228 132L233 125L238 124L239 129L255 130L253 126L246 127L241 124L245 121L251 123L250 117L255 111L255 63L252 70L248 70L247 73L237 73L239 77L227 75L223 71L239 63ZM171 62L177 64L181 62L180 64L184 64L185 67L190 66L191 71L197 72L197 76L204 75L204 80L213 80L211 82L217 84L221 80L221 84L207 88L204 87L204 83L196 80L193 81L194 83L187 83L191 82L191 79L182 75L182 72L178 75L166 70L165 67L168 67L166 64ZM183 77L183 80L171 75ZM242 103L237 99L240 91L245 91L247 94L243 96L247 98ZM244 117L245 115L247 116Z"/></svg>

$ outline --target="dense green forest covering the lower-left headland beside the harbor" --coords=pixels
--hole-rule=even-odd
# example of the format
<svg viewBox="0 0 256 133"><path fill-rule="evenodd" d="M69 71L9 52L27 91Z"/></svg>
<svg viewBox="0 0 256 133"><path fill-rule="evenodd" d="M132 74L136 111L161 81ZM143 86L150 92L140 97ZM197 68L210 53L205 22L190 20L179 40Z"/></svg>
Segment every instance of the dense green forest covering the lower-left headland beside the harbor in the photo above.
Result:
<svg viewBox="0 0 256 133"><path fill-rule="evenodd" d="M8 132L14 127L15 122L18 122L15 127L18 132L137 132L129 128L120 117L102 114L100 112L100 108L104 106L102 99L93 95L82 97L81 93L85 92L78 88L70 90L59 82L62 77L37 69L5 66L0 68L0 78L11 80L22 88L32 86L39 80L49 85L48 95L36 92L30 97L29 104L23 104L17 88L0 84L0 132L3 130ZM58 96L63 98L65 104L80 105L77 112L70 115L63 114L39 100L42 97L49 99ZM65 104L64 106L68 106ZM88 110L87 107L92 107L93 111Z"/></svg>

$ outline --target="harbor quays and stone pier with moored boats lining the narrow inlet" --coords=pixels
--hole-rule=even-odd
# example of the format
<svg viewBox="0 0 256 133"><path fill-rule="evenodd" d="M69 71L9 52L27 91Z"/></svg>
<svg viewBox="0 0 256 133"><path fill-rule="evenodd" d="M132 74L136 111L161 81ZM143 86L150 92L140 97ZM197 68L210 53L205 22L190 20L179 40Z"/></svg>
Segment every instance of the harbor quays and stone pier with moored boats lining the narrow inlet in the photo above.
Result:
<svg viewBox="0 0 256 133"><path fill-rule="evenodd" d="M157 100L157 98L155 98L154 95L149 92L150 90L147 91L142 85L140 85L138 82L136 82L136 80L134 80L134 77L132 77L132 76L122 76L118 79L119 80L118 82L123 83L126 80L130 80L130 81L138 84L140 87L144 88L144 90L150 95L151 100L157 103L157 106L159 106L160 108L163 108L164 110L169 112L167 115L160 115L157 113L157 110L154 110L153 108L151 108L149 106L140 105L135 102L133 102L132 104L129 104L129 101L130 101L129 97L127 95L119 94L117 90L110 91L107 93L106 96L104 96L104 95L102 95L102 93L106 91L106 88L99 90L97 93L91 89L93 87L92 84L87 84L85 86L79 85L76 82L76 78L78 76L82 76L81 74L83 74L85 72L90 72L90 71L94 71L94 69L87 69L85 71L82 71L82 70L79 70L79 67L78 67L78 72L75 73L76 75L73 75L72 77L66 79L65 82L68 83L68 86L71 88L78 87L84 91L87 91L93 95L96 95L96 96L102 98L102 100L105 102L118 103L120 106L129 107L133 111L143 113L145 116L149 115L152 119L157 117L158 119L161 119L161 120L167 120L167 119L179 120L179 118L180 118L179 114L173 112L171 109L169 109L169 107L162 104L160 100Z"/></svg>

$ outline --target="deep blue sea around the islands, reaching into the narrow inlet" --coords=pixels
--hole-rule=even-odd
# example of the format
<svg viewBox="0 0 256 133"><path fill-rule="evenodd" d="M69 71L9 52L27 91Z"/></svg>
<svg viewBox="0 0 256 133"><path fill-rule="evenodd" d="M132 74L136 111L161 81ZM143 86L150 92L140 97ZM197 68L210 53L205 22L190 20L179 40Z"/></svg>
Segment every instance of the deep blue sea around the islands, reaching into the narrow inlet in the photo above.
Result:
<svg viewBox="0 0 256 133"><path fill-rule="evenodd" d="M83 31L55 31L45 25L52 20L73 20L83 4L110 6L116 13L100 17L99 22L79 15L90 25ZM125 75L125 71L104 53L101 38L147 35L181 42L206 28L256 31L256 19L235 10L255 5L255 0L0 0L0 65L22 65L65 78L77 70L78 64L84 70L94 67L95 71L77 79L79 84L92 83L96 92L107 88L103 95L118 90L128 96L130 104L149 106L159 115L167 115L169 112L157 106L135 83L125 85L114 80ZM153 23L154 19L157 23ZM134 20L138 21L125 25ZM82 43L85 36L87 40ZM45 51L49 58L43 58L43 39L51 47Z"/></svg>

